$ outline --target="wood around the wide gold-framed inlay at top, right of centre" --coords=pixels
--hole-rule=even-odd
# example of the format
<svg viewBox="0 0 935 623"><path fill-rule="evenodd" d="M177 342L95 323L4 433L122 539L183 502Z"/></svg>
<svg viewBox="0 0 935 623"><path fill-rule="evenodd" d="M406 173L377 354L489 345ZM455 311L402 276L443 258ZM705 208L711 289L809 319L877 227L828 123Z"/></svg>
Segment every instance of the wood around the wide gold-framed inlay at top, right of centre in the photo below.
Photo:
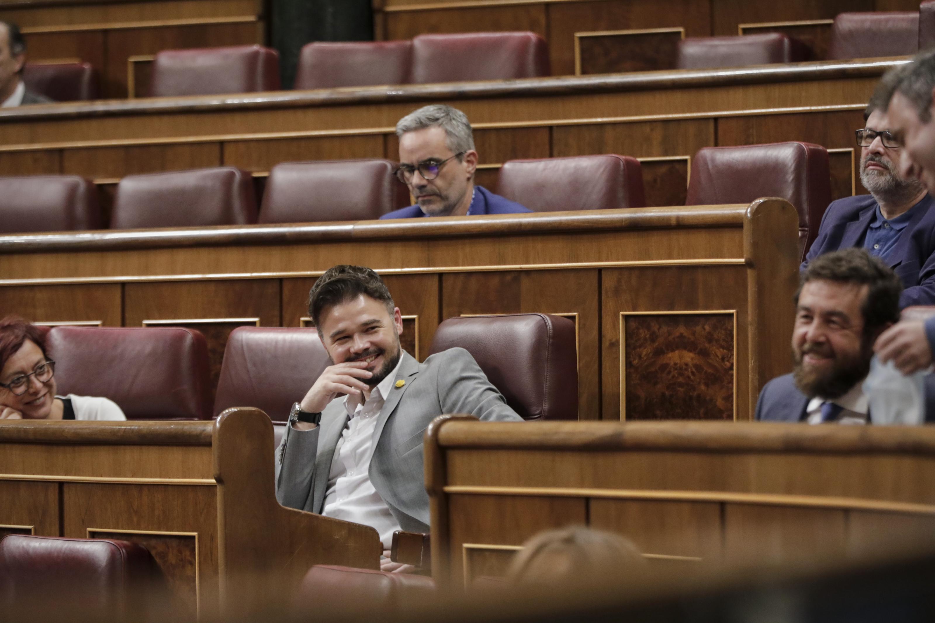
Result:
<svg viewBox="0 0 935 623"><path fill-rule="evenodd" d="M554 76L575 71L575 33L683 26L686 36L711 35L711 8L705 0L571 2L546 7Z"/></svg>

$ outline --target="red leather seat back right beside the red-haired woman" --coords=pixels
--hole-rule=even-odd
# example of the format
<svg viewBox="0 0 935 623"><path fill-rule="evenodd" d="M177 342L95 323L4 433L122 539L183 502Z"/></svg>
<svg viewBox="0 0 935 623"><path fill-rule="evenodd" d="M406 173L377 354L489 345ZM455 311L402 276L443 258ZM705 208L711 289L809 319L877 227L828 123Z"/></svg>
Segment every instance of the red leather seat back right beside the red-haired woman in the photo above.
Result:
<svg viewBox="0 0 935 623"><path fill-rule="evenodd" d="M60 394L103 396L127 419L209 419L205 336L181 327L54 327Z"/></svg>

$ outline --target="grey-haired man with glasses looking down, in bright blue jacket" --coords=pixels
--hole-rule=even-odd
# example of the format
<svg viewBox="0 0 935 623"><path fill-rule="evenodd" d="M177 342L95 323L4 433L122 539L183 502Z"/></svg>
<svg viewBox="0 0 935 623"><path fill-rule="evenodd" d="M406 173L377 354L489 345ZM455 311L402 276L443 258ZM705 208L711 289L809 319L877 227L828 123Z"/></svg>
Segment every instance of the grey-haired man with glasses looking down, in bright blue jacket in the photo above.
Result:
<svg viewBox="0 0 935 623"><path fill-rule="evenodd" d="M410 188L416 205L381 219L516 214L528 208L477 186L478 155L468 117L452 106L419 108L396 123L396 177Z"/></svg>

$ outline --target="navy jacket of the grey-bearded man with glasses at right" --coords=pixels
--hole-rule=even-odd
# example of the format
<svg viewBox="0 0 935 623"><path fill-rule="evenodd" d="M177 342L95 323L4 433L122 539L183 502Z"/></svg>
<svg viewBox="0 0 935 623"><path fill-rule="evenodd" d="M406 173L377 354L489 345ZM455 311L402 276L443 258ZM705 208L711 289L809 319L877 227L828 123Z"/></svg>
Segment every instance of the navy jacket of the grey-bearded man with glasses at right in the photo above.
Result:
<svg viewBox="0 0 935 623"><path fill-rule="evenodd" d="M896 247L885 258L905 288L899 297L900 309L909 305L935 304L935 209L931 207L930 195L927 194L922 202L927 204L926 209L919 210L906 225L899 234ZM862 244L876 206L876 200L869 194L846 197L828 205L818 237L800 270L805 270L809 262L823 253Z"/></svg>

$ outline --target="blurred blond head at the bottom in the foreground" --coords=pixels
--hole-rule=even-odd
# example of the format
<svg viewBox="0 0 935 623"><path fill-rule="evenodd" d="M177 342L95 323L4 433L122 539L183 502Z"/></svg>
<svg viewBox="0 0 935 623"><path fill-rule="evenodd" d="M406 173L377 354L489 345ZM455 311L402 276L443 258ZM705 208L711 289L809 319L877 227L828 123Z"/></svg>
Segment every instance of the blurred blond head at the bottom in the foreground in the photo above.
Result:
<svg viewBox="0 0 935 623"><path fill-rule="evenodd" d="M514 586L567 587L626 578L645 566L640 550L623 536L572 526L526 541L507 578Z"/></svg>

